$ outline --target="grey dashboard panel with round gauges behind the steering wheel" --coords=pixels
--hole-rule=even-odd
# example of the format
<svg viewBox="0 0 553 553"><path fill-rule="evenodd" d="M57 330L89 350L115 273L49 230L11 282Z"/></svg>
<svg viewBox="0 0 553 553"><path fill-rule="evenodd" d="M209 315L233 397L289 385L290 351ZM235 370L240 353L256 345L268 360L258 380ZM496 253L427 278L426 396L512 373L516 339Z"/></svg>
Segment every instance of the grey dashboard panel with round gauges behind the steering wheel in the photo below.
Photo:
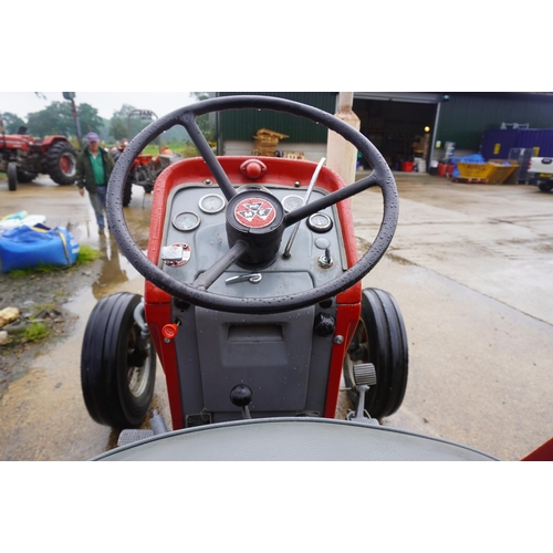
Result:
<svg viewBox="0 0 553 553"><path fill-rule="evenodd" d="M279 199L286 213L301 207L305 198L304 188L263 188ZM310 201L326 194L315 187ZM226 207L227 199L219 188L200 184L177 187L167 201L159 267L177 280L191 283L218 261L229 249ZM334 206L300 221L294 231L295 225L284 231L270 267L257 273L234 263L209 290L223 295L264 298L299 292L290 286L300 282L302 289L319 286L342 274L346 269L345 254ZM290 257L283 257L292 234Z"/></svg>

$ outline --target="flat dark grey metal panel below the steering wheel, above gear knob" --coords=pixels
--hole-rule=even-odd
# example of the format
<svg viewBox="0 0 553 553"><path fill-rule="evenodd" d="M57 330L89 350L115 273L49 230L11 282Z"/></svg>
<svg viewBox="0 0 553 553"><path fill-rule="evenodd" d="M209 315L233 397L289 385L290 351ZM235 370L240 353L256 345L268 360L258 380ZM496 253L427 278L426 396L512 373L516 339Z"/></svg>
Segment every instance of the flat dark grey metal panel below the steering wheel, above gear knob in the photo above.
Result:
<svg viewBox="0 0 553 553"><path fill-rule="evenodd" d="M302 275L289 273L290 285ZM309 280L305 273L303 278ZM239 410L230 401L238 384L253 392L252 414L305 408L315 309L249 315L196 309L204 405ZM240 334L231 332L241 330ZM274 332L278 330L279 332Z"/></svg>

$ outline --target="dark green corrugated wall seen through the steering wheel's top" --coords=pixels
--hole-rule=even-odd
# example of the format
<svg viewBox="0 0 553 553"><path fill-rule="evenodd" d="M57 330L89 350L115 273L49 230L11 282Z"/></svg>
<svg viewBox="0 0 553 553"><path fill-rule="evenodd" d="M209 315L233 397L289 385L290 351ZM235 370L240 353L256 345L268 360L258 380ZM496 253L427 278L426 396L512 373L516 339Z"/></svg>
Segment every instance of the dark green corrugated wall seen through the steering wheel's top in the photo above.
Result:
<svg viewBox="0 0 553 553"><path fill-rule="evenodd" d="M219 96L233 95L276 96L336 113L336 92L220 92ZM253 140L260 128L289 135L288 142L326 143L327 131L303 117L279 112L234 109L221 112L219 132L225 140Z"/></svg>

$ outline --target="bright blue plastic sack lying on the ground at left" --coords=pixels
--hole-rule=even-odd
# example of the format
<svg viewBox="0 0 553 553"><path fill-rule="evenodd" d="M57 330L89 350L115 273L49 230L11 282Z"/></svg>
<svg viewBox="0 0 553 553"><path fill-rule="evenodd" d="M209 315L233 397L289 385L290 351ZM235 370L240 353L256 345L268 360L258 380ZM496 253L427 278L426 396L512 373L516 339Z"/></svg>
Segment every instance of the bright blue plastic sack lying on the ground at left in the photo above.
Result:
<svg viewBox="0 0 553 553"><path fill-rule="evenodd" d="M79 250L79 243L64 227L23 225L0 236L0 271L7 273L42 264L69 267L76 261Z"/></svg>

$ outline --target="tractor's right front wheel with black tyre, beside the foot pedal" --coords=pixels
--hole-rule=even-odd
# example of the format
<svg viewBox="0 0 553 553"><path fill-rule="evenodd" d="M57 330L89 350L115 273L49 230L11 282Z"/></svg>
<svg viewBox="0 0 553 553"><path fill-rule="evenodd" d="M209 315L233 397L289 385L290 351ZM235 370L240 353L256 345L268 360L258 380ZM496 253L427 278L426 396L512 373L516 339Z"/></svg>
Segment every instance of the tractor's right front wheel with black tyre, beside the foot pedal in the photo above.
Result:
<svg viewBox="0 0 553 553"><path fill-rule="evenodd" d="M365 408L373 418L388 417L399 409L407 386L409 365L407 333L399 307L388 292L363 290L361 320L344 359L344 380L355 386L353 367L373 363L376 386L365 395ZM355 405L357 393L349 392Z"/></svg>

